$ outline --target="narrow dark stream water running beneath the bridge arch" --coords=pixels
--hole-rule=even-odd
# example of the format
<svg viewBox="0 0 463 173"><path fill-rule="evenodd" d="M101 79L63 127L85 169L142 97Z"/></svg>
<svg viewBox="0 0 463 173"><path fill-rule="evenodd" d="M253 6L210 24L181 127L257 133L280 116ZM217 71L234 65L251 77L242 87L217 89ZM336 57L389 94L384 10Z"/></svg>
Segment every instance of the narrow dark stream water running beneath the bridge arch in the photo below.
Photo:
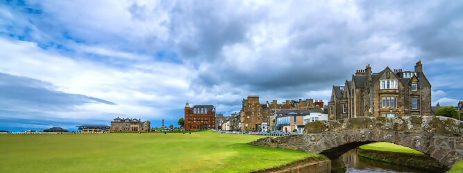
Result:
<svg viewBox="0 0 463 173"><path fill-rule="evenodd" d="M367 158L362 158L360 156L357 156L357 149L351 149L351 151L346 152L346 154L342 155L339 158L342 158L342 161L346 165L346 172L426 172L411 167L392 165L389 163L383 163L379 161L373 161ZM338 160L338 162L339 161L340 160Z"/></svg>

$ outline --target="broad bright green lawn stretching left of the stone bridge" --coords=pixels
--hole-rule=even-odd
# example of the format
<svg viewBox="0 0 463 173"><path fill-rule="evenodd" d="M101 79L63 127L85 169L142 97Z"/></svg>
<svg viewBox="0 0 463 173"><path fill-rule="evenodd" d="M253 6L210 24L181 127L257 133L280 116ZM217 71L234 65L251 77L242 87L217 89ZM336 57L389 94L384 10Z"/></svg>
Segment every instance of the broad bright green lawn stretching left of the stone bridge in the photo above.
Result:
<svg viewBox="0 0 463 173"><path fill-rule="evenodd" d="M219 134L0 135L0 172L250 172L309 156Z"/></svg>

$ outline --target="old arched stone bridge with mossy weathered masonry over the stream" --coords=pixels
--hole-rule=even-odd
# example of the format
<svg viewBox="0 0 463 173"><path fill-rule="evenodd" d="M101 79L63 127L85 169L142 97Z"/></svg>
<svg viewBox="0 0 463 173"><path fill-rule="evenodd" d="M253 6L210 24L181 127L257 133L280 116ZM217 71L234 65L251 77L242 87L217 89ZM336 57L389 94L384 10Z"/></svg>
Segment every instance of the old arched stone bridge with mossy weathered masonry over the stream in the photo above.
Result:
<svg viewBox="0 0 463 173"><path fill-rule="evenodd" d="M309 122L302 135L261 138L251 145L313 152L334 159L374 142L403 145L450 167L463 157L463 123L437 116L360 117Z"/></svg>

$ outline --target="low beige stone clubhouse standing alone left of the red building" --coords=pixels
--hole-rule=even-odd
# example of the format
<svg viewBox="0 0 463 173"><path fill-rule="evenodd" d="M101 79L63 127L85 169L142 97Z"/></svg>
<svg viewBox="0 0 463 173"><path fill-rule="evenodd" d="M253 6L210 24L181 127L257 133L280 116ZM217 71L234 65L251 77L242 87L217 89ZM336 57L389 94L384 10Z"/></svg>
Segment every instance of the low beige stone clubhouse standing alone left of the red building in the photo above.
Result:
<svg viewBox="0 0 463 173"><path fill-rule="evenodd" d="M136 118L115 118L111 121L110 131L113 132L140 132L150 131L151 122Z"/></svg>

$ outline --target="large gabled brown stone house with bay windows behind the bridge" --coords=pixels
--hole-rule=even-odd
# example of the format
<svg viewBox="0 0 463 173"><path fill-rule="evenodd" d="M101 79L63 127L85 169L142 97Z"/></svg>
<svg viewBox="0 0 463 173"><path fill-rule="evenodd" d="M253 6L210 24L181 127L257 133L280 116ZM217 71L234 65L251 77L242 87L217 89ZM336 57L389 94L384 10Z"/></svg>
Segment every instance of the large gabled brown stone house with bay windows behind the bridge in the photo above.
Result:
<svg viewBox="0 0 463 173"><path fill-rule="evenodd" d="M414 71L357 70L344 86L333 86L328 102L330 119L357 116L431 116L431 84L421 61Z"/></svg>

